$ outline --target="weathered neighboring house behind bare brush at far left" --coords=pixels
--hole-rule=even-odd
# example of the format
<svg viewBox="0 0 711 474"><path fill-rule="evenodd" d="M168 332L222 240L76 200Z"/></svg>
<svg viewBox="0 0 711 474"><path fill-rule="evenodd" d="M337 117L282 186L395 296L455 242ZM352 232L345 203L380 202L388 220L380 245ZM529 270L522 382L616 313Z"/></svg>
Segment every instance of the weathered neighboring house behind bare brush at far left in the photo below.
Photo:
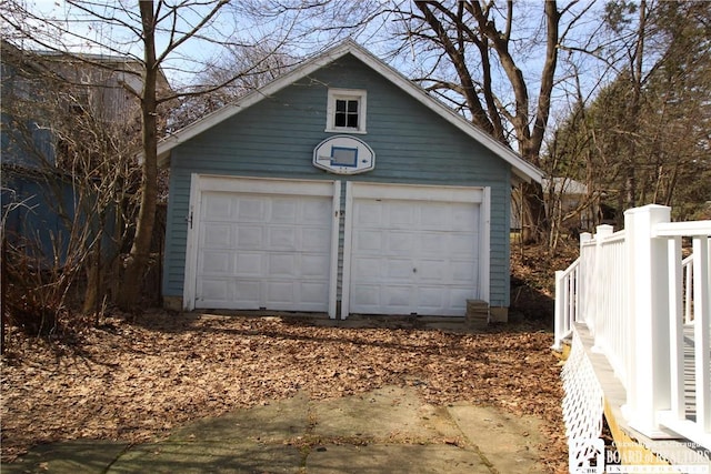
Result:
<svg viewBox="0 0 711 474"><path fill-rule="evenodd" d="M142 88L141 63L113 56L26 51L7 41L1 42L0 59L2 236L33 263L63 265L69 248L81 253L83 241L91 241L101 226L102 251L114 255L119 239L113 233L121 225L114 222L113 205L98 209L93 191L78 185L76 157L57 130L63 125L71 134L67 121L88 114L108 130L120 124L130 133L133 125L140 137L140 103L127 88ZM159 87L168 88L162 74ZM70 141L91 137L86 130L74 132ZM82 152L84 160L116 159ZM88 223L91 232L84 232Z"/></svg>

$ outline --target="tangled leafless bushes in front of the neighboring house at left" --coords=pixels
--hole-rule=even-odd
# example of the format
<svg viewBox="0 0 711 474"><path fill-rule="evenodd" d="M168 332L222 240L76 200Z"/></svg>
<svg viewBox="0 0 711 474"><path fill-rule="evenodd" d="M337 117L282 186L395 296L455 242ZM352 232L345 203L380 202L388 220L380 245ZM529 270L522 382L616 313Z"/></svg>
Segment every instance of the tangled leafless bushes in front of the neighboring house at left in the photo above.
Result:
<svg viewBox="0 0 711 474"><path fill-rule="evenodd" d="M38 307L26 312L57 319L69 311L66 300L74 293L70 286L84 272L83 312L98 312L107 276L129 236L123 222L133 219L132 196L140 182L139 107L124 100L117 83L133 64L103 57L104 64L116 68L109 71L53 52L20 51L9 43L2 53L8 152L3 188L4 181L30 183L36 194L28 198L31 205L43 209L27 212L41 212L49 221L41 229L13 229L18 235L9 235L10 250L18 250L11 252L13 260L28 263L13 266L12 283L36 296ZM24 215L26 209L17 204L26 198L12 195L12 188L6 191L6 218ZM24 219L13 220L21 225Z"/></svg>

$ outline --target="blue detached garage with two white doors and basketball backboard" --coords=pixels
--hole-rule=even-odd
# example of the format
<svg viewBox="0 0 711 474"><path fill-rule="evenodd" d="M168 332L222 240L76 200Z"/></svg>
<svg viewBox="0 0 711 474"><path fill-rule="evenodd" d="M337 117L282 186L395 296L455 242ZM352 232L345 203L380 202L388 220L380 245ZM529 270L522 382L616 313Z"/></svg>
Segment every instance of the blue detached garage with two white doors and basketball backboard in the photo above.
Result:
<svg viewBox="0 0 711 474"><path fill-rule="evenodd" d="M511 188L543 173L352 41L158 151L169 307L507 319Z"/></svg>

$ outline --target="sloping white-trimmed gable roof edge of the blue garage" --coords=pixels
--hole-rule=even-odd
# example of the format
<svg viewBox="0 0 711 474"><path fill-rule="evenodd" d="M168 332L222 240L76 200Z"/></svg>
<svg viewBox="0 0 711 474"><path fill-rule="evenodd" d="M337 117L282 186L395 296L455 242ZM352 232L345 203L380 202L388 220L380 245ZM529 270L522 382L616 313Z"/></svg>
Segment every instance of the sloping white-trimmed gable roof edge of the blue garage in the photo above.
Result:
<svg viewBox="0 0 711 474"><path fill-rule="evenodd" d="M400 88L412 99L422 103L428 109L447 120L449 123L488 148L499 158L511 164L513 174L519 179L523 181L534 181L538 183L542 182L543 171L523 160L517 152L494 140L491 135L473 125L462 115L454 112L452 109L450 109L439 100L429 95L424 89L414 84L395 69L385 64L383 61L374 57L370 51L365 50L363 47L352 40L343 41L339 46L327 50L320 56L303 62L301 65L291 70L284 75L277 78L263 88L248 93L236 102L232 102L231 104L228 104L203 117L202 119L161 140L158 144L159 165L167 164L170 158L171 150L179 144L192 139L193 137L197 137L198 134L209 130L210 128L229 119L230 117L233 117L246 110L247 108L260 102L264 98L277 93L281 89L291 85L300 79L316 72L317 70L330 64L333 61L337 61L338 59L349 53L365 63L384 79L389 80L394 85Z"/></svg>

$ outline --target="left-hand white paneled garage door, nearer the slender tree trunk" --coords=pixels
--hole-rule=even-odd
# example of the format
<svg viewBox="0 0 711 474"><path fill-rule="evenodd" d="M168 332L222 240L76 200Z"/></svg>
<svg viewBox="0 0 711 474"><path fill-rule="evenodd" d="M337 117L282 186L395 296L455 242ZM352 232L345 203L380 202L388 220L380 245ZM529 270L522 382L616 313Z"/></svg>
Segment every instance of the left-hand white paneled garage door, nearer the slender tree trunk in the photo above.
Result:
<svg viewBox="0 0 711 474"><path fill-rule="evenodd" d="M196 307L329 310L332 196L203 190L199 216Z"/></svg>

